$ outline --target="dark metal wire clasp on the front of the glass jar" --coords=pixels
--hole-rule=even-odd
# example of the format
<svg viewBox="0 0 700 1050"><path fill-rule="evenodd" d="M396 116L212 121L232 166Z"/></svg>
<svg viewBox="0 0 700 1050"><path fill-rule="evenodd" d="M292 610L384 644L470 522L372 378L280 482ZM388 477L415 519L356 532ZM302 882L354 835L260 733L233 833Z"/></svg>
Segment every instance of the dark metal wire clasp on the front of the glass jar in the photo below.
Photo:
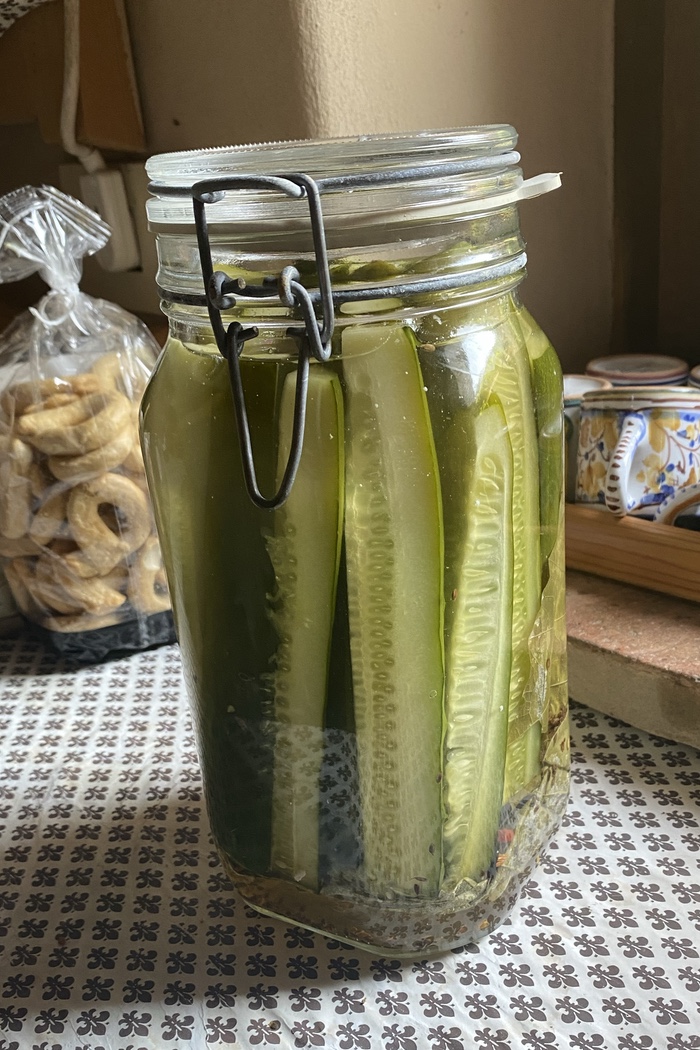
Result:
<svg viewBox="0 0 700 1050"><path fill-rule="evenodd" d="M214 270L209 243L207 205L220 201L226 191L231 189L276 190L289 197L306 198L319 280L320 320L309 292L300 281L299 272L293 266L284 267L279 277L264 277L260 285L248 285L242 278L230 277L220 270ZM284 178L276 175L231 175L195 183L192 187L192 205L209 319L219 353L229 365L246 488L256 507L276 510L289 499L301 459L311 358L323 362L331 357L335 315L320 192L314 180L301 173L288 175ZM263 496L257 482L239 362L246 342L258 335L258 329L243 328L239 321L232 321L226 328L221 319L221 311L235 307L236 295L256 299L279 298L284 306L291 309L297 308L303 319L303 328L293 327L288 330L289 335L299 340L292 442L282 480L277 492L272 497Z"/></svg>

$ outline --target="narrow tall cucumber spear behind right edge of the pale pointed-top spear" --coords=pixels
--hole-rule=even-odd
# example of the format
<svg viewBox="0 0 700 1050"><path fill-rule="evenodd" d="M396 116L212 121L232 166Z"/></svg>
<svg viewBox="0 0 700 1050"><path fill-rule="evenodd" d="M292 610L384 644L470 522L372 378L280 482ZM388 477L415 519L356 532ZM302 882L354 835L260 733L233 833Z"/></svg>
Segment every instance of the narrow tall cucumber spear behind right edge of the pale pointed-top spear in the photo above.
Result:
<svg viewBox="0 0 700 1050"><path fill-rule="evenodd" d="M542 723L526 697L530 634L539 610L539 458L529 359L519 330L496 363L492 391L503 404L513 450L513 621L504 801L519 795L539 772Z"/></svg>

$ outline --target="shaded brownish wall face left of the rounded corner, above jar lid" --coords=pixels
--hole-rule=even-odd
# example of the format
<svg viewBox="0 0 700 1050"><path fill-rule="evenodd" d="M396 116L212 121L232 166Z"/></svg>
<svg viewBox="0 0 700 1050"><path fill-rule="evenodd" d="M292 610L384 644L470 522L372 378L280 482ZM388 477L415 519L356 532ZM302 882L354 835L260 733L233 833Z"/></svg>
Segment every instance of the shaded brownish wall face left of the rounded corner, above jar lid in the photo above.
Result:
<svg viewBox="0 0 700 1050"><path fill-rule="evenodd" d="M307 136L294 6L126 0L150 152Z"/></svg>

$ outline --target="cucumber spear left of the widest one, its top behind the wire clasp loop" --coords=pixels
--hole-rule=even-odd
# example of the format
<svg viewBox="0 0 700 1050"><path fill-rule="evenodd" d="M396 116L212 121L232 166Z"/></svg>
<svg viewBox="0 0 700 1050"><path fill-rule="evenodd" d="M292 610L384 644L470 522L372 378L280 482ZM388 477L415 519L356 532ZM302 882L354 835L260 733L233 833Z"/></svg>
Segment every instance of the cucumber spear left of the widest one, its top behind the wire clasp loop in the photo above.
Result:
<svg viewBox="0 0 700 1050"><path fill-rule="evenodd" d="M282 387L279 484L290 453L296 373ZM292 494L269 541L275 569L275 768L271 866L318 887L319 775L342 542L343 403L337 376L312 368L304 444Z"/></svg>

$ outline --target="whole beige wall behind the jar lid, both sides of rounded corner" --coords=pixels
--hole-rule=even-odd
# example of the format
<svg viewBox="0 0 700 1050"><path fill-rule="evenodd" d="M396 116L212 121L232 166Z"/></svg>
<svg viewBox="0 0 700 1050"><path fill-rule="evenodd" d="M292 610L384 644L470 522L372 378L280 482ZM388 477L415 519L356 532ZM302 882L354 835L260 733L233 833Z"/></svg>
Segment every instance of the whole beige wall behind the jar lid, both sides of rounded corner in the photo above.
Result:
<svg viewBox="0 0 700 1050"><path fill-rule="evenodd" d="M569 371L606 352L613 0L126 0L126 7L150 151L514 124L527 174L564 172L564 189L523 207L525 297ZM47 154L48 170L55 166ZM109 280L101 294L110 294Z"/></svg>

